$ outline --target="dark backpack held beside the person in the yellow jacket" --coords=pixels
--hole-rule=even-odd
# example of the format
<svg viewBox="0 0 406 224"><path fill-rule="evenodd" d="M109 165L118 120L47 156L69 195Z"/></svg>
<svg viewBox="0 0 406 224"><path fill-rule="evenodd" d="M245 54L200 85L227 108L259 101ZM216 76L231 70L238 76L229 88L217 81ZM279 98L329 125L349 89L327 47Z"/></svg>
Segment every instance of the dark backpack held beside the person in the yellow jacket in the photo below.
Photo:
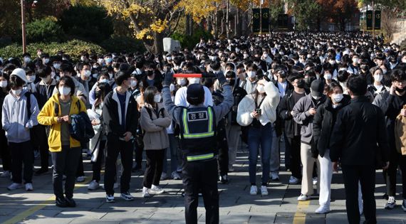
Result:
<svg viewBox="0 0 406 224"><path fill-rule="evenodd" d="M80 102L77 101L76 104L80 111ZM82 146L95 136L92 122L90 122L89 116L85 112L71 115L69 129L71 130L71 137L78 140Z"/></svg>

